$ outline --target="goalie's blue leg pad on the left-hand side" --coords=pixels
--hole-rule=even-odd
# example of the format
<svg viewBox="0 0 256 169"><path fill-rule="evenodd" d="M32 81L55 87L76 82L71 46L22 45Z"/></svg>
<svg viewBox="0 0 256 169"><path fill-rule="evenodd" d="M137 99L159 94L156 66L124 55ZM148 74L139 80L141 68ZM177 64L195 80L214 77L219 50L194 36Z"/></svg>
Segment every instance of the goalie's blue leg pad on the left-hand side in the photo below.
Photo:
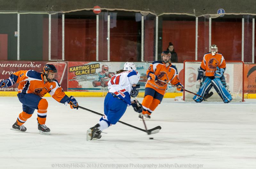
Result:
<svg viewBox="0 0 256 169"><path fill-rule="evenodd" d="M204 77L204 81L202 83L202 86L199 88L199 91L196 94L201 95L203 97L206 96L212 88L211 81L212 81L212 79L210 79L209 77ZM199 97L197 95L195 95L193 97L195 102L202 102L204 100L204 98Z"/></svg>

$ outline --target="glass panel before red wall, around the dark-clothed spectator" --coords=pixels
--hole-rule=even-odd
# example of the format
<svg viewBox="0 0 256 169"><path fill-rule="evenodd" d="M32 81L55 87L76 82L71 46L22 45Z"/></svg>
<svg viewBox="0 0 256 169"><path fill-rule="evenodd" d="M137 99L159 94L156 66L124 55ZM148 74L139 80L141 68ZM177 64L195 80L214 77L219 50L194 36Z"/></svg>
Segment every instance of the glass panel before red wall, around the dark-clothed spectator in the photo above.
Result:
<svg viewBox="0 0 256 169"><path fill-rule="evenodd" d="M171 60L174 63L194 60L196 18L186 15L163 15L161 18L158 30L161 33L162 26L162 36L158 34L158 40L162 39L162 51L168 50L168 47L172 46Z"/></svg>

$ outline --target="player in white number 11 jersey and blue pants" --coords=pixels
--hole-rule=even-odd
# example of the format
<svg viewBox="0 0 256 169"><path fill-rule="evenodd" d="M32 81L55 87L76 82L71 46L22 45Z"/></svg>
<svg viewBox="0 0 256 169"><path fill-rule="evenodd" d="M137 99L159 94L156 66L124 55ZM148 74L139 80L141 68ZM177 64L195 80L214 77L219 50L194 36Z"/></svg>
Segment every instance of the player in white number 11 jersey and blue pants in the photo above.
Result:
<svg viewBox="0 0 256 169"><path fill-rule="evenodd" d="M127 106L132 105L136 112L142 112L140 104L131 99L139 94L139 80L140 74L136 71L134 63L126 62L123 70L117 71L108 81L108 94L104 100L105 115L100 118L99 123L87 130L87 141L99 139L101 131L116 124L124 115Z"/></svg>

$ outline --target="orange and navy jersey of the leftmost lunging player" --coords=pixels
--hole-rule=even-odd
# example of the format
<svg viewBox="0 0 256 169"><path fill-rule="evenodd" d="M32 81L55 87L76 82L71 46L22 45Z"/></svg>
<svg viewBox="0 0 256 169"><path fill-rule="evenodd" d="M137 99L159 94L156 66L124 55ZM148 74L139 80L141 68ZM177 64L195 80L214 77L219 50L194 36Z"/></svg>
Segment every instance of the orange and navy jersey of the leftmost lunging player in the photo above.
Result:
<svg viewBox="0 0 256 169"><path fill-rule="evenodd" d="M11 74L8 80L10 81L8 86L20 83L18 86L19 93L33 93L40 97L49 93L58 102L67 102L68 96L62 91L57 80L44 82L43 74L34 70L20 70Z"/></svg>

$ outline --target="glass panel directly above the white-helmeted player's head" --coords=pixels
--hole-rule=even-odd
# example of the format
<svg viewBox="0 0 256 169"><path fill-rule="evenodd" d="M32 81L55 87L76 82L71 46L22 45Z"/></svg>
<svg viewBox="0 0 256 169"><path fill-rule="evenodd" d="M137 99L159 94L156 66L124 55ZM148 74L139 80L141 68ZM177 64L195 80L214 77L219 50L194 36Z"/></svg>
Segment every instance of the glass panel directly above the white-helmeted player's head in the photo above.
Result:
<svg viewBox="0 0 256 169"><path fill-rule="evenodd" d="M141 14L117 11L109 15L110 61L140 61Z"/></svg>

